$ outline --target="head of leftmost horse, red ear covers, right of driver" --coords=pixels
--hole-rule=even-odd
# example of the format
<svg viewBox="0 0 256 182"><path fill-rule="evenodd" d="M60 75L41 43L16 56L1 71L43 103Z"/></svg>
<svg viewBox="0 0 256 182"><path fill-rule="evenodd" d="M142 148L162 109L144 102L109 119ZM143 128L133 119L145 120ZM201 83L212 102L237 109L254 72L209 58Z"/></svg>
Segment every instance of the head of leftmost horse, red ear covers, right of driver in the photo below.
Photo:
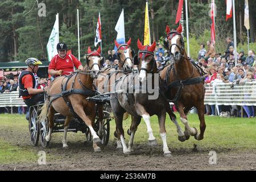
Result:
<svg viewBox="0 0 256 182"><path fill-rule="evenodd" d="M86 55L86 64L89 70L92 70L93 78L97 78L98 72L100 71L101 65L104 63L105 59L101 56L101 47L98 47L97 51L92 51L88 47L88 53Z"/></svg>

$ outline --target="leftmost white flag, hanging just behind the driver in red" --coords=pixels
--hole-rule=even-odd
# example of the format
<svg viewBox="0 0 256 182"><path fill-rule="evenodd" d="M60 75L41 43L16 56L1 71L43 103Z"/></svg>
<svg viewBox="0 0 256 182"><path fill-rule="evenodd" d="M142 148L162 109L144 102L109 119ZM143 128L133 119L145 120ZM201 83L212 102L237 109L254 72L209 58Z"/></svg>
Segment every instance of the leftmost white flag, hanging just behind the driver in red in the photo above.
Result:
<svg viewBox="0 0 256 182"><path fill-rule="evenodd" d="M56 15L56 20L52 28L51 35L46 46L48 61L52 60L52 57L55 56L57 52L57 43L59 43L59 14Z"/></svg>

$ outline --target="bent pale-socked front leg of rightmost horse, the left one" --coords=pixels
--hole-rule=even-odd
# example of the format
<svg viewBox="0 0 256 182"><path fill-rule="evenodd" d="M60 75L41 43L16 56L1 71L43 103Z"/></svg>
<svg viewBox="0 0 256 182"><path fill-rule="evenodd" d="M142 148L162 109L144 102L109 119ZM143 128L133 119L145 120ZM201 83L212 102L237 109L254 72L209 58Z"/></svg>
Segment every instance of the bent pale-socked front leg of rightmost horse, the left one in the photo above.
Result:
<svg viewBox="0 0 256 182"><path fill-rule="evenodd" d="M183 105L180 102L178 102L177 104L177 109L179 110L180 113L180 121L185 125L184 134L186 139L189 139L189 135L195 136L197 134L197 130L195 127L189 126L187 115L185 115Z"/></svg>

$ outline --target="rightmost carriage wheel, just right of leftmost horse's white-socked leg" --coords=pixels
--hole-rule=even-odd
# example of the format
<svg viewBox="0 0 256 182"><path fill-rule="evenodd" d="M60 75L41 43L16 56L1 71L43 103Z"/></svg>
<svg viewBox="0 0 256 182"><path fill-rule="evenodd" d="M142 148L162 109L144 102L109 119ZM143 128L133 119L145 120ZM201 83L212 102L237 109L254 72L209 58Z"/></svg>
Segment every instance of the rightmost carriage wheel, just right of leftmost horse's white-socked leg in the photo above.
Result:
<svg viewBox="0 0 256 182"><path fill-rule="evenodd" d="M103 111L104 112L104 119L102 121L102 126L99 127L98 130L98 137L101 139L101 144L106 146L109 143L109 133L110 133L110 124L109 122L111 119L109 118L109 113L108 111ZM101 125L98 123L98 125ZM100 129L102 127L102 130ZM101 131L100 131L101 130Z"/></svg>

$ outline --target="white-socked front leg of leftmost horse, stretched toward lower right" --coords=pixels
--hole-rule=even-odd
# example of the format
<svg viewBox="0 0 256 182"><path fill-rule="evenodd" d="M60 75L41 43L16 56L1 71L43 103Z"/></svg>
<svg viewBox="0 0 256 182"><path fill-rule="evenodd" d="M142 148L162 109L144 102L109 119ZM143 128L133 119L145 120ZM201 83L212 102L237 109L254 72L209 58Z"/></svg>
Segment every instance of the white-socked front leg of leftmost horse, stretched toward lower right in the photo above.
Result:
<svg viewBox="0 0 256 182"><path fill-rule="evenodd" d="M101 142L100 137L98 137L96 131L94 131L92 125L95 119L95 113L90 113L89 117L85 114L84 112L84 107L80 104L75 104L73 105L73 109L76 112L77 115L82 119L82 121L85 122L86 126L89 127L90 133L92 134L93 137L93 149L94 152L100 152L101 149L100 147L97 146L98 142Z"/></svg>

